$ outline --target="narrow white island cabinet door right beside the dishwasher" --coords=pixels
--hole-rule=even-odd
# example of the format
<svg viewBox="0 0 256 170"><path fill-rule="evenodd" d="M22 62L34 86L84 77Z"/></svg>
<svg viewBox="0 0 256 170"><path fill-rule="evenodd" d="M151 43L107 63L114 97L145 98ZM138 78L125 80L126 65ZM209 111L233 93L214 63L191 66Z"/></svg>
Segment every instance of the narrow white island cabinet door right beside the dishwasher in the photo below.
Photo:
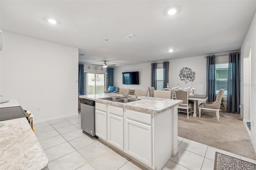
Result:
<svg viewBox="0 0 256 170"><path fill-rule="evenodd" d="M95 110L95 130L96 136L107 140L107 113Z"/></svg>

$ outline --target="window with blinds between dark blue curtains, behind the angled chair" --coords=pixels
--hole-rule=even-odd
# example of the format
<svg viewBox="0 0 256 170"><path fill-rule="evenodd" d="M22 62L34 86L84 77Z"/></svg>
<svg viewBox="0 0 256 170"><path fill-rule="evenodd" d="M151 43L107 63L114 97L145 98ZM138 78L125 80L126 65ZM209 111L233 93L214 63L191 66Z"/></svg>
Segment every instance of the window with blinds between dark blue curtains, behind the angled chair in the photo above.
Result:
<svg viewBox="0 0 256 170"><path fill-rule="evenodd" d="M224 89L223 95L228 92L228 63L215 64L215 94L217 95L220 89Z"/></svg>

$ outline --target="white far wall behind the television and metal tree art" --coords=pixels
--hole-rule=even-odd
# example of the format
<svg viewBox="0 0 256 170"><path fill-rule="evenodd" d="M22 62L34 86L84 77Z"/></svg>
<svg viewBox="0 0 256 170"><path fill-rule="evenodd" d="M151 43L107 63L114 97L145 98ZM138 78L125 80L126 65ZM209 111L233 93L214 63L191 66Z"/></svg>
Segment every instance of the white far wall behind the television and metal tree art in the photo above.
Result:
<svg viewBox="0 0 256 170"><path fill-rule="evenodd" d="M216 55L222 55L218 53ZM206 93L206 58L207 55L188 57L182 59L169 60L169 88L177 87L180 83L181 88L196 87L196 94ZM161 63L159 61L158 63ZM228 55L216 57L216 62L228 62ZM157 64L157 67L162 67L162 64ZM189 67L196 73L194 82L190 81L187 84L180 80L179 74L183 67ZM116 67L114 69L114 85L127 88L127 85L122 84L122 72L139 71L140 85L128 85L129 89L148 89L151 87L151 63L128 65L124 67Z"/></svg>

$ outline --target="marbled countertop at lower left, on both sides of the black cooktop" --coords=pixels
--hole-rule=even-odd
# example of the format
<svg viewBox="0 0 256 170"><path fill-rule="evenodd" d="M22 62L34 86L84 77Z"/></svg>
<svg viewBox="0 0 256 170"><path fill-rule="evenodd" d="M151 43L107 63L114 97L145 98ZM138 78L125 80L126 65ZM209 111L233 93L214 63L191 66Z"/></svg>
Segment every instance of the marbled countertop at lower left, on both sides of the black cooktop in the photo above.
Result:
<svg viewBox="0 0 256 170"><path fill-rule="evenodd" d="M9 102L0 107L20 106L17 100ZM4 123L0 127L1 170L48 170L48 158L25 117L0 123Z"/></svg>

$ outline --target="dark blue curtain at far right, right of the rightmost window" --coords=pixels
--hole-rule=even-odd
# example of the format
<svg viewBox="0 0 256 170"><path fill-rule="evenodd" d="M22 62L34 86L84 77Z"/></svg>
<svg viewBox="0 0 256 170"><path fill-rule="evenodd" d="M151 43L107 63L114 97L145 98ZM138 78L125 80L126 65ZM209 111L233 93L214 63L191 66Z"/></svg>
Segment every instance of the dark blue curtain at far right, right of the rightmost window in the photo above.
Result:
<svg viewBox="0 0 256 170"><path fill-rule="evenodd" d="M228 112L240 113L239 54L229 53L228 63Z"/></svg>

